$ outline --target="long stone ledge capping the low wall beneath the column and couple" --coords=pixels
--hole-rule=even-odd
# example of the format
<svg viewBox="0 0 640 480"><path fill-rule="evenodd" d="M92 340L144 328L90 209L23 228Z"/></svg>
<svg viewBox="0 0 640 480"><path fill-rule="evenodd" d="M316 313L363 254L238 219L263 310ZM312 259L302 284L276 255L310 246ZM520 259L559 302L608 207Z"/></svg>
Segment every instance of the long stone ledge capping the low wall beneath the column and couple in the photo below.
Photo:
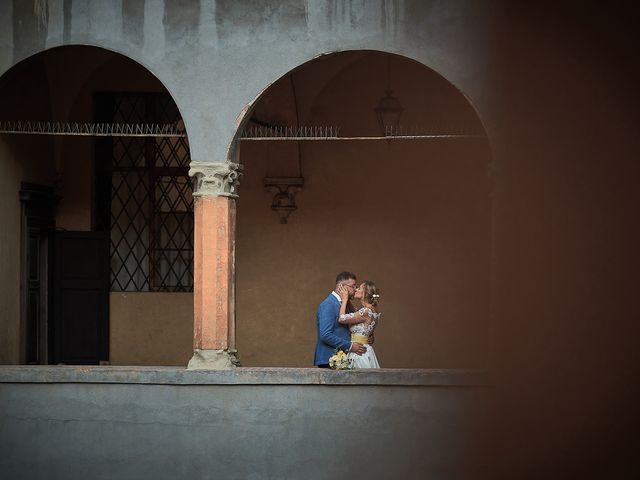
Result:
<svg viewBox="0 0 640 480"><path fill-rule="evenodd" d="M478 370L381 368L334 371L318 368L276 367L187 370L178 367L10 365L0 366L0 383L488 386L486 373Z"/></svg>

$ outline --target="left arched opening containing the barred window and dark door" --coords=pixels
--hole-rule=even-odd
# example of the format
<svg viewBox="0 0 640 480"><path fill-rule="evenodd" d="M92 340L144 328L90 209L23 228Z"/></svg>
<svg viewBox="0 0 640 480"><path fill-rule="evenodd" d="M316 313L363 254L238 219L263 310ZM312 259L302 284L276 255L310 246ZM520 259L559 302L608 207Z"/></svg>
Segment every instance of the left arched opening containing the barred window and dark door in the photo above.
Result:
<svg viewBox="0 0 640 480"><path fill-rule="evenodd" d="M123 55L65 46L3 75L0 104L0 363L186 365L193 200L167 89ZM172 134L127 130L140 124Z"/></svg>

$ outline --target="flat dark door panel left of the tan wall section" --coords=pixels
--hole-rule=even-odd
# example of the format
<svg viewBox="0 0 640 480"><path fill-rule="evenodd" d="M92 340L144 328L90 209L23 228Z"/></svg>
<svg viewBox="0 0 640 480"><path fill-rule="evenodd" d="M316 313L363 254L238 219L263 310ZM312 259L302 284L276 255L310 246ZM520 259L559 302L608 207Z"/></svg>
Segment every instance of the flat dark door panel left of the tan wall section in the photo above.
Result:
<svg viewBox="0 0 640 480"><path fill-rule="evenodd" d="M50 363L108 362L108 232L55 232L52 283Z"/></svg>

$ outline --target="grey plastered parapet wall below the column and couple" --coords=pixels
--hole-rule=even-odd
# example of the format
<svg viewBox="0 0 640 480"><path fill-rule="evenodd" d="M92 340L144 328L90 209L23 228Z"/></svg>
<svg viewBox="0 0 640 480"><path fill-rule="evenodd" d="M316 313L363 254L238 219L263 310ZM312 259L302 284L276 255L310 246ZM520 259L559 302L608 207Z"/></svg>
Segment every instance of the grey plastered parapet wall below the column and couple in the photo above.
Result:
<svg viewBox="0 0 640 480"><path fill-rule="evenodd" d="M454 374L67 370L0 383L8 478L473 478L486 391Z"/></svg>

